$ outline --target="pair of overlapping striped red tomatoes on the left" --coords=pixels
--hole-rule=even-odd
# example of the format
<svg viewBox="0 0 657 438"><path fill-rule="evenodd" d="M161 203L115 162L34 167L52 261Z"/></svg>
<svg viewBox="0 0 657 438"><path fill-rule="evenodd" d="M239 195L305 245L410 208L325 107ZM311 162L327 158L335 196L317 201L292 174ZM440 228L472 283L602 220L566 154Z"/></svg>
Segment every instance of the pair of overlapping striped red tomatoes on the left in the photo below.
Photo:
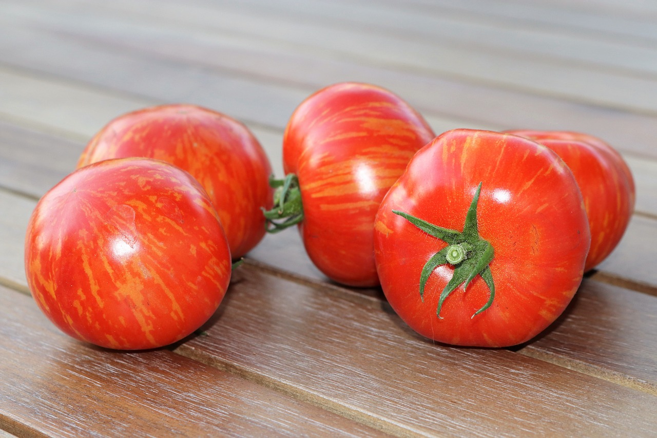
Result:
<svg viewBox="0 0 657 438"><path fill-rule="evenodd" d="M37 203L28 285L72 337L112 349L168 345L221 303L265 235L271 166L249 130L193 105L124 114Z"/></svg>

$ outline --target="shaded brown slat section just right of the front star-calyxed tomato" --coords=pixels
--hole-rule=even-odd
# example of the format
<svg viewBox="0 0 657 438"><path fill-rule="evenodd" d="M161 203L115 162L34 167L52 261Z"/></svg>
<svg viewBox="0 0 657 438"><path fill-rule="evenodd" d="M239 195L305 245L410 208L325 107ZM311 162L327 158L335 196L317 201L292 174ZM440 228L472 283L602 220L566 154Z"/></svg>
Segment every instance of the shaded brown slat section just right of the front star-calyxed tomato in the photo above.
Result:
<svg viewBox="0 0 657 438"><path fill-rule="evenodd" d="M564 316L520 353L657 395L657 348L646 342L656 338L656 297L585 280Z"/></svg>

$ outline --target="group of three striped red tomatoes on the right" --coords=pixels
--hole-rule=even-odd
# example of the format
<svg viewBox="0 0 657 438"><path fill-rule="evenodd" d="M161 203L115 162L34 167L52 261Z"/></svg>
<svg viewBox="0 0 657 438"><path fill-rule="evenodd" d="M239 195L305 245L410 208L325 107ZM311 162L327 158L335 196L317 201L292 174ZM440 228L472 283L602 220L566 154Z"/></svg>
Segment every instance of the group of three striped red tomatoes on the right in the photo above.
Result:
<svg viewBox="0 0 657 438"><path fill-rule="evenodd" d="M434 137L396 95L317 91L292 114L271 232L297 224L328 278L380 284L399 317L442 343L507 347L568 306L634 206L627 164L574 132Z"/></svg>

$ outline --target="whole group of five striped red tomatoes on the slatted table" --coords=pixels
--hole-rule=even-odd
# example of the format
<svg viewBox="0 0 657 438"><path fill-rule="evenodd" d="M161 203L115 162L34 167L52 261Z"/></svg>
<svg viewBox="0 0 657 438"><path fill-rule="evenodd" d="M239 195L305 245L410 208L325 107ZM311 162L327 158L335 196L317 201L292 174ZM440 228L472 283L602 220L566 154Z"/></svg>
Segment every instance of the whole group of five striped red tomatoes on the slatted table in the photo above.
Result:
<svg viewBox="0 0 657 438"><path fill-rule="evenodd" d="M41 198L28 285L72 337L112 349L198 329L231 262L297 226L330 280L380 287L420 335L508 347L552 324L623 236L627 164L576 132L436 136L396 94L334 84L292 113L284 179L240 122L194 105L124 114Z"/></svg>

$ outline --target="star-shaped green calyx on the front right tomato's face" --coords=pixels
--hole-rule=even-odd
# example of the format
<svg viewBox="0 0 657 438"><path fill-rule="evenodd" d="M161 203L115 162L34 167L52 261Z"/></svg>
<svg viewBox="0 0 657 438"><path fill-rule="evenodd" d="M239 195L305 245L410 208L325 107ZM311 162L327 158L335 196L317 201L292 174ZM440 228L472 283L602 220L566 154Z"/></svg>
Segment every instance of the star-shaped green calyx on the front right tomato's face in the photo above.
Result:
<svg viewBox="0 0 657 438"><path fill-rule="evenodd" d="M420 230L449 245L436 253L428 260L428 262L426 262L424 268L422 268L422 274L420 275L420 297L422 298L422 301L424 301L424 287L426 286L429 276L434 272L434 269L443 264L451 264L454 266L454 274L451 280L447 282L447 285L445 285L442 293L440 293L440 299L438 301L436 314L438 315L438 318L441 319L442 316L440 316L440 310L442 309L445 299L449 297L449 294L455 291L455 289L463 283L464 288L468 287L470 281L474 280L478 275L482 276L484 281L486 281L486 285L490 290L490 295L488 302L484 304L482 308L477 310L472 315L472 318L489 308L495 298L495 283L493 283L493 276L488 266L491 260L493 260L493 246L480 237L477 226L477 203L479 201L481 190L482 184L480 183L474 193L472 203L468 208L463 232L461 233L459 233L459 231L449 230L447 228L430 224L429 222L411 216L410 214L398 210L392 210L392 212L399 214L399 216L405 218Z"/></svg>

